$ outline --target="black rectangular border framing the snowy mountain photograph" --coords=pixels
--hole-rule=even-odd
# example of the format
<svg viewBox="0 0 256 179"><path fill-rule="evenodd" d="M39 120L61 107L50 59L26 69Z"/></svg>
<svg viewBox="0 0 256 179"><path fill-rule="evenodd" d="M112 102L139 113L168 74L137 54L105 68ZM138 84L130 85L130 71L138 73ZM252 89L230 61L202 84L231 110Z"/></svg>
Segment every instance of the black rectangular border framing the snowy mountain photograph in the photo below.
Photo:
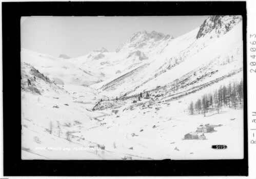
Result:
<svg viewBox="0 0 256 179"><path fill-rule="evenodd" d="M162 161L21 160L21 16L242 15L244 159ZM3 2L5 176L225 176L248 175L246 2Z"/></svg>

